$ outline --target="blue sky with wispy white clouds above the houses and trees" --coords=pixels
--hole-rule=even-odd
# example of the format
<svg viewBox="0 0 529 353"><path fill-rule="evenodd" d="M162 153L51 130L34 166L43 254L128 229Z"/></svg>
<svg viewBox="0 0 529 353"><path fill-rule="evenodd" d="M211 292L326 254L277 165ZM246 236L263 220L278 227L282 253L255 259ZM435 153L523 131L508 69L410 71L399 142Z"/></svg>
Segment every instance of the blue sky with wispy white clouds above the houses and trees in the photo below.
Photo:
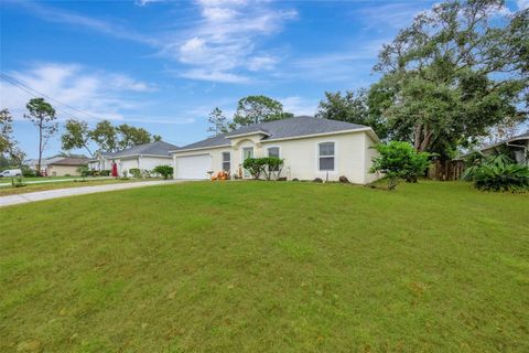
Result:
<svg viewBox="0 0 529 353"><path fill-rule="evenodd" d="M313 115L325 90L367 87L384 43L434 1L9 1L1 7L1 72L76 117L147 128L168 142L205 138L216 106L262 94ZM529 0L507 3L505 11ZM29 157L32 98L0 81ZM46 156L61 150L60 135Z"/></svg>

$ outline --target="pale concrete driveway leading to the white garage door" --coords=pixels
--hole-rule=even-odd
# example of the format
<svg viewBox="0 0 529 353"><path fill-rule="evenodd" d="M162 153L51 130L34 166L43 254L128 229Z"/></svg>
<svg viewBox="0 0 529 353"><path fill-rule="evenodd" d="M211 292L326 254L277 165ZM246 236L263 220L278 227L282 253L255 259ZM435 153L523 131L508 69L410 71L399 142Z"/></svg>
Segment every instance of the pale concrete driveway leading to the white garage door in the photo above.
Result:
<svg viewBox="0 0 529 353"><path fill-rule="evenodd" d="M139 181L139 182L123 183L123 184L94 185L94 186L80 186L80 188L37 191L37 192L30 192L30 193L20 194L20 195L1 196L0 207L18 205L18 204L35 202L35 201L93 194L96 192L107 192L107 191L153 186L153 185L165 185L165 184L173 184L179 182L183 182L183 181L181 180Z"/></svg>

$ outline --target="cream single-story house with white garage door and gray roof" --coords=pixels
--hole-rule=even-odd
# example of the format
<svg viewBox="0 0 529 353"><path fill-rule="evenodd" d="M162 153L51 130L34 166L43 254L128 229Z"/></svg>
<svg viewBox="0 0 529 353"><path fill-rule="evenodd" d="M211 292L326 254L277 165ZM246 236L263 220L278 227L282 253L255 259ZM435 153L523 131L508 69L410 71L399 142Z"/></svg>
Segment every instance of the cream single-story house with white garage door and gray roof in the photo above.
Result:
<svg viewBox="0 0 529 353"><path fill-rule="evenodd" d="M288 179L366 184L377 179L369 173L378 138L370 127L314 117L295 117L255 124L172 151L175 179L207 179L222 170L242 174L249 157L279 157L281 175Z"/></svg>

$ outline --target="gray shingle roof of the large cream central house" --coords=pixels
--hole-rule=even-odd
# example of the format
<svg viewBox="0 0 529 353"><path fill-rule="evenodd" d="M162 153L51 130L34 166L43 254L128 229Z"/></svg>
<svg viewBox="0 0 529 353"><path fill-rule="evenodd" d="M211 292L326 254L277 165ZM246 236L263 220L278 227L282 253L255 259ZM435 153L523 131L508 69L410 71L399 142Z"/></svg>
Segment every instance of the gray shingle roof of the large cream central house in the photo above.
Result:
<svg viewBox="0 0 529 353"><path fill-rule="evenodd" d="M301 116L283 120L268 121L244 126L228 133L218 135L198 142L182 147L182 149L194 149L204 147L229 146L229 137L263 131L269 136L262 140L274 140L289 137L299 137L314 133L337 132L366 128L364 125L336 121L330 119Z"/></svg>

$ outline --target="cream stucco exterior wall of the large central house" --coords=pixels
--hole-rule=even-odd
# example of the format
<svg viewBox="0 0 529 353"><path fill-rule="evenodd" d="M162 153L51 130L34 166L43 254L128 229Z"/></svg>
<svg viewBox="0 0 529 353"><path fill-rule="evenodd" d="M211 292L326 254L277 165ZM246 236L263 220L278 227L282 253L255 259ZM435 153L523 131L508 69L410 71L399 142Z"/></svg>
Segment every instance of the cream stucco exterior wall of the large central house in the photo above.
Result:
<svg viewBox="0 0 529 353"><path fill-rule="evenodd" d="M279 147L280 158L284 159L282 176L289 180L313 180L321 178L328 181L337 181L345 175L350 182L366 184L377 179L377 175L369 174L371 158L376 151L367 149L374 143L373 139L365 132L337 133L321 137L299 138L278 141L261 141L259 136L248 136L231 140L231 147L218 147L195 151L182 151L173 153L174 159L181 156L193 156L208 153L212 156L212 170L222 170L222 153L231 153L231 173L237 173L242 164L242 150L245 147L253 147L255 157L267 157L269 147ZM335 170L319 170L319 143L335 143Z"/></svg>

